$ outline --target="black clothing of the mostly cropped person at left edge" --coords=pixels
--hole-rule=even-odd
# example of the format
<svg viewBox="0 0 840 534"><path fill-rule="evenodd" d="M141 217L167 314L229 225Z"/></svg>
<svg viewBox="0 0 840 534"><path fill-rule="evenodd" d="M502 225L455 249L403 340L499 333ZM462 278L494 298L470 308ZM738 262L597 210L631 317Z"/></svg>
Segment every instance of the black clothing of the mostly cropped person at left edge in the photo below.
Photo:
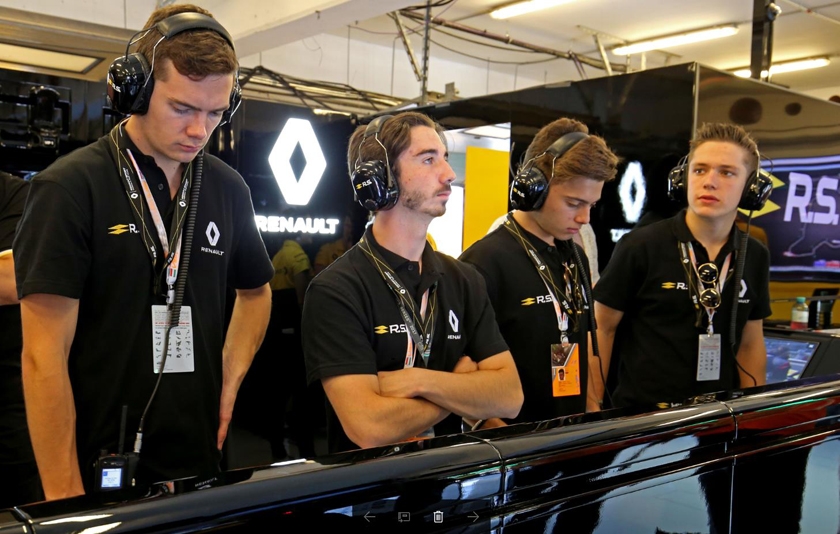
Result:
<svg viewBox="0 0 840 534"><path fill-rule="evenodd" d="M12 249L29 182L0 172L0 254ZM0 464L35 461L20 377L20 305L0 306Z"/></svg>

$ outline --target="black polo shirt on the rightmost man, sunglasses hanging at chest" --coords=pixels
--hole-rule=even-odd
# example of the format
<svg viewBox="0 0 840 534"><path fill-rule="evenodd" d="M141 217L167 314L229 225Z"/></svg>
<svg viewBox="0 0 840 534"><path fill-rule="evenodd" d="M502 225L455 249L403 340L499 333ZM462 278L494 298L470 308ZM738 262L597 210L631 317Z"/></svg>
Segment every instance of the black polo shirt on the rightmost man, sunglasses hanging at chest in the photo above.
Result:
<svg viewBox="0 0 840 534"><path fill-rule="evenodd" d="M732 252L721 305L714 316L714 330L721 335L722 344L720 379L696 380L698 336L706 332L708 319L701 308L697 326L698 312L691 301L679 243L692 243L698 265L709 257L686 226L685 213L683 210L625 235L595 286L596 301L624 312L612 352L613 361L619 361L618 384L612 395L617 406L679 402L739 387L735 355L744 325L770 315L770 253L749 238L733 352L729 331L735 288L730 282L743 236L733 225L729 241L715 258L722 272L726 256Z"/></svg>

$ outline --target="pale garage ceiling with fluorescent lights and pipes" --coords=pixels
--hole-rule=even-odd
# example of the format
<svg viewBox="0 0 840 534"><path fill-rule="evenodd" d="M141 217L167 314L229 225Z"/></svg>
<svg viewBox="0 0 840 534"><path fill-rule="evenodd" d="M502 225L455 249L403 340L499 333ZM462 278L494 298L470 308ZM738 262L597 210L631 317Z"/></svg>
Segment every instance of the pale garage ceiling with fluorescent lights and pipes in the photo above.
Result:
<svg viewBox="0 0 840 534"><path fill-rule="evenodd" d="M133 0L131 5L124 1L121 3L123 6L119 6L110 0L0 0L0 7L16 8L0 9L0 42L23 40L31 44L33 40L37 41L33 32L19 29L24 24L20 20L21 13L28 13L42 21L50 17L75 20L79 26L73 31L68 30L66 21L54 24L60 27L59 35L64 35L65 42L67 35L79 37L86 34L86 40L74 42L112 53L114 43L120 42L123 35L130 34L130 30L141 27L156 4L168 3L172 2ZM228 28L243 57L324 34L344 39L348 39L349 35L349 39L376 43L390 49L398 34L395 21L387 13L412 7L412 2L405 0L198 0L195 3L212 11ZM489 15L493 8L509 3L505 0L433 0L432 3L435 4L433 17L599 61L596 34L609 50L623 42L737 24L740 31L732 37L648 52L644 59L639 55L631 56L629 63L624 56L608 52L608 57L612 62L626 64L632 70L688 61L728 70L746 67L750 60L752 0L573 0L507 20L496 20ZM825 93L836 88L835 92L840 93L840 1L778 0L777 3L782 14L774 28L774 62L828 57L831 65L779 74L773 81L797 91ZM422 8L414 11L418 15L424 12ZM17 19L10 13L16 13ZM422 62L423 25L409 16L401 19L417 61ZM552 80L606 75L602 69L591 66L584 67L581 74L568 60L523 51L451 29L436 27L431 37L430 54L433 58L484 65L488 69L516 68L518 73L530 73L532 79L541 77L537 73L548 73L549 70ZM404 53L397 60L408 62ZM286 72L282 66L278 70L300 75ZM92 75L98 74L99 70ZM320 79L328 80L328 77L325 75Z"/></svg>

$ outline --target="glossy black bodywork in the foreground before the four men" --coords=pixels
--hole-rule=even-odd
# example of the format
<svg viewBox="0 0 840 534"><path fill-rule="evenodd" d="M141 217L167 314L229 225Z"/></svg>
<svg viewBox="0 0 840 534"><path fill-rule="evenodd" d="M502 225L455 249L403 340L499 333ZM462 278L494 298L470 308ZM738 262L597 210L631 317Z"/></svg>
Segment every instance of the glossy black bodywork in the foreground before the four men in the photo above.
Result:
<svg viewBox="0 0 840 534"><path fill-rule="evenodd" d="M837 532L836 378L34 504L0 533Z"/></svg>

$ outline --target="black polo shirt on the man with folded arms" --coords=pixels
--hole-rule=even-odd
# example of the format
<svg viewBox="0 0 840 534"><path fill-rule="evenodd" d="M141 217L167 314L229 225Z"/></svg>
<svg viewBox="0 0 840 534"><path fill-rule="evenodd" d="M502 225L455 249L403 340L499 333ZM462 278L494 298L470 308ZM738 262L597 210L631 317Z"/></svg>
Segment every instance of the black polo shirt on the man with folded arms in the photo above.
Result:
<svg viewBox="0 0 840 534"><path fill-rule="evenodd" d="M484 280L474 268L435 252L426 243L423 271L418 262L389 252L376 243L370 229L366 242L380 252L400 281L419 302L435 283L437 311L429 369L452 371L470 356L480 362L507 349L487 299ZM332 376L376 374L404 366L408 337L394 294L359 244L322 271L309 286L303 306L303 352L307 380ZM415 366L422 366L416 358ZM460 431L460 418L450 415L435 434ZM331 452L355 449L327 407Z"/></svg>

